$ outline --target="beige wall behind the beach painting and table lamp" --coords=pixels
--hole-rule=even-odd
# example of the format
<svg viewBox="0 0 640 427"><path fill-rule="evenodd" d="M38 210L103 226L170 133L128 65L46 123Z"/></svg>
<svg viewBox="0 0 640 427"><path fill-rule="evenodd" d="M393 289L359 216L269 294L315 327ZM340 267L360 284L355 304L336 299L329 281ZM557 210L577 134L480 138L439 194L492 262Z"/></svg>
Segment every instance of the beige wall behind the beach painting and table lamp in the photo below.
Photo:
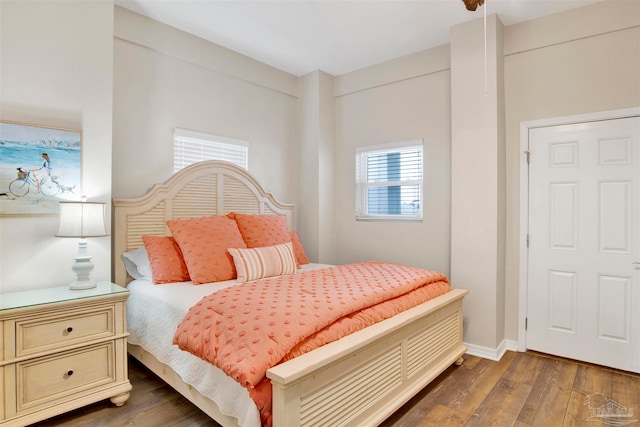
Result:
<svg viewBox="0 0 640 427"><path fill-rule="evenodd" d="M81 129L83 192L109 203L113 1L3 0L0 43L0 118ZM53 237L57 224L57 216L0 218L0 292L75 279L78 241ZM108 280L109 237L89 239L89 253L91 277Z"/></svg>

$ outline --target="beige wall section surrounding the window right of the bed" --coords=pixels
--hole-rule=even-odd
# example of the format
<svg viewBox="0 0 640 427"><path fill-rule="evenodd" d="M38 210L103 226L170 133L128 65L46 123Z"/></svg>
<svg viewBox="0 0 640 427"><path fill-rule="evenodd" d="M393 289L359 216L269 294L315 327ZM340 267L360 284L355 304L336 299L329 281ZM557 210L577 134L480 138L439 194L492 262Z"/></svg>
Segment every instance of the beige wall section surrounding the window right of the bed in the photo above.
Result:
<svg viewBox="0 0 640 427"><path fill-rule="evenodd" d="M336 78L335 255L449 273L451 120L447 46ZM424 140L424 220L355 220L355 149Z"/></svg>

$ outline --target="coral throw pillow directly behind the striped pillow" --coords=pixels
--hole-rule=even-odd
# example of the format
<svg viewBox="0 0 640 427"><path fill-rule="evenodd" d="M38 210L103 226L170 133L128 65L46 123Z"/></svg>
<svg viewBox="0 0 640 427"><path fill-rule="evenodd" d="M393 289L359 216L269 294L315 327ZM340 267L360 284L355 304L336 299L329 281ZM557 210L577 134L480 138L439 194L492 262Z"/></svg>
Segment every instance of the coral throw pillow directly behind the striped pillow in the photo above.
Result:
<svg viewBox="0 0 640 427"><path fill-rule="evenodd" d="M248 248L281 245L291 241L287 220L282 215L231 213Z"/></svg>

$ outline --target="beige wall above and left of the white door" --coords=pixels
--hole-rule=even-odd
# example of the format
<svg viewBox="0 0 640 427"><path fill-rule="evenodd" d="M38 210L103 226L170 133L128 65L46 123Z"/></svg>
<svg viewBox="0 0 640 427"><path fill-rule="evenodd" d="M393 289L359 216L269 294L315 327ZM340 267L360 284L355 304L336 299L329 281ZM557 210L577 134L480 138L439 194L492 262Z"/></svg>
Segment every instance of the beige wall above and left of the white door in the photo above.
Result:
<svg viewBox="0 0 640 427"><path fill-rule="evenodd" d="M520 123L640 106L640 2L506 27L506 338L518 332Z"/></svg>

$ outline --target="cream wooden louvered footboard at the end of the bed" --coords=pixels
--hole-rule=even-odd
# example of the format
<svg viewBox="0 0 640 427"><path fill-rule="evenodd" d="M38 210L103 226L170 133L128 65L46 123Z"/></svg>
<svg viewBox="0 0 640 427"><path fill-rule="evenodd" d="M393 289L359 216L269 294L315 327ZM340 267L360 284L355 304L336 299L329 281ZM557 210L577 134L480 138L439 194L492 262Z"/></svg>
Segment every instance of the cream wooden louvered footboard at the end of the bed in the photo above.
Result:
<svg viewBox="0 0 640 427"><path fill-rule="evenodd" d="M400 313L267 371L273 424L376 425L462 361L465 290Z"/></svg>

